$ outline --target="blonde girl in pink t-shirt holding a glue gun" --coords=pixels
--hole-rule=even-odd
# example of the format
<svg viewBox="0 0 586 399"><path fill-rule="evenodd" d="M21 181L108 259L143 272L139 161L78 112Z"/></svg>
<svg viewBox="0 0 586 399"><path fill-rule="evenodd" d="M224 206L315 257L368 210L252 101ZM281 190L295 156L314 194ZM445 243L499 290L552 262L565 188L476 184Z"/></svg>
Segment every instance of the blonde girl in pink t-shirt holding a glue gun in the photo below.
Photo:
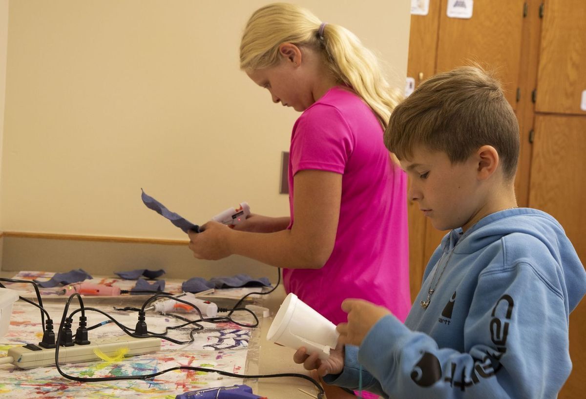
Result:
<svg viewBox="0 0 586 399"><path fill-rule="evenodd" d="M240 254L284 268L287 292L332 322L345 298L410 309L406 176L384 147L397 96L352 32L298 5L248 20L240 67L272 101L302 112L289 149L290 214L190 233L199 259Z"/></svg>

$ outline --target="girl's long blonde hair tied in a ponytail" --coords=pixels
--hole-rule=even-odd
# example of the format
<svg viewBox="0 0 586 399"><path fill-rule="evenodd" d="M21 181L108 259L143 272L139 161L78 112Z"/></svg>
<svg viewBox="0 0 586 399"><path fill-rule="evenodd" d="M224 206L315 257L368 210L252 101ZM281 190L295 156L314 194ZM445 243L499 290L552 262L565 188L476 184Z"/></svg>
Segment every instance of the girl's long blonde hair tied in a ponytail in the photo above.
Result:
<svg viewBox="0 0 586 399"><path fill-rule="evenodd" d="M320 32L321 25L311 11L298 5L274 3L258 9L242 35L240 68L254 71L274 66L280 60L281 43L319 51L338 84L355 91L386 128L400 96L390 89L379 60L349 30L328 23Z"/></svg>

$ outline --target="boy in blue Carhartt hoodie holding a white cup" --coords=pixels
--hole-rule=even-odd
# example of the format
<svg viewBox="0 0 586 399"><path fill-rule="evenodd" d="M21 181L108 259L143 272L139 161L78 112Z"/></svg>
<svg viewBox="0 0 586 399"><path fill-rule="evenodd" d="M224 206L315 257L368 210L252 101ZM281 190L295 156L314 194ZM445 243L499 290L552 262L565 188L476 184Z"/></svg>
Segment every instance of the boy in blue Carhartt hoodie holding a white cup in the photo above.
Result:
<svg viewBox="0 0 586 399"><path fill-rule="evenodd" d="M351 345L325 362L301 348L295 362L386 398L557 397L586 273L554 218L517 208L519 127L499 83L476 67L435 75L393 111L385 143L411 178L409 198L451 232L404 325L346 300L338 331Z"/></svg>

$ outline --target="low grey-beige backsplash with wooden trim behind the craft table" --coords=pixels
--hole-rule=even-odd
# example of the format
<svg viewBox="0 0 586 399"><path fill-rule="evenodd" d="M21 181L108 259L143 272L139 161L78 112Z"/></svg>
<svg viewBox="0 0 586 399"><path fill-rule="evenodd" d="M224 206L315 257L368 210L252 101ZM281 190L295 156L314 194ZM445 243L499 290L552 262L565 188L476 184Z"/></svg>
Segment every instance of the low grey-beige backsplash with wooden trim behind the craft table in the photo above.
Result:
<svg viewBox="0 0 586 399"><path fill-rule="evenodd" d="M188 241L46 233L0 233L0 270L64 272L83 269L100 276L114 271L165 269L167 278L233 276L277 280L277 269L242 256L218 261L193 257Z"/></svg>

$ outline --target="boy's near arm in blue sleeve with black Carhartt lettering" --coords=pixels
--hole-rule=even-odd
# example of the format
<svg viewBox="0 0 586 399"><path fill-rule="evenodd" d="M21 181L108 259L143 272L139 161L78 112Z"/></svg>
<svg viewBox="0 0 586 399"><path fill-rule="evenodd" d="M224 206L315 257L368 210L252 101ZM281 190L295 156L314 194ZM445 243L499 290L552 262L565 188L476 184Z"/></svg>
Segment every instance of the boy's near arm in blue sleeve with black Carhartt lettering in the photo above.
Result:
<svg viewBox="0 0 586 399"><path fill-rule="evenodd" d="M358 360L390 397L556 397L571 370L563 295L527 263L483 273L464 336L454 337L461 352L388 315L367 333Z"/></svg>

